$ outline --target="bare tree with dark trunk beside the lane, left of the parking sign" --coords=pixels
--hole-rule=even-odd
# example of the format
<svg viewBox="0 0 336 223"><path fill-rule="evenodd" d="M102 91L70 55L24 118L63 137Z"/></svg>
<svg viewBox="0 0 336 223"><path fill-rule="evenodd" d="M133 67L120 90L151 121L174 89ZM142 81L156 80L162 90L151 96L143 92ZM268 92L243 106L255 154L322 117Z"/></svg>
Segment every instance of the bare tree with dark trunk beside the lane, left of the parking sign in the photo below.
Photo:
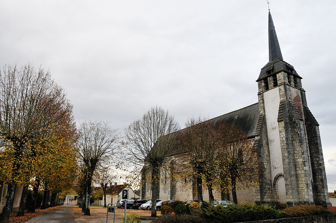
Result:
<svg viewBox="0 0 336 223"><path fill-rule="evenodd" d="M84 164L82 211L90 215L92 177L99 165L107 164L117 148L118 134L110 124L102 121L83 122L79 130L78 148Z"/></svg>

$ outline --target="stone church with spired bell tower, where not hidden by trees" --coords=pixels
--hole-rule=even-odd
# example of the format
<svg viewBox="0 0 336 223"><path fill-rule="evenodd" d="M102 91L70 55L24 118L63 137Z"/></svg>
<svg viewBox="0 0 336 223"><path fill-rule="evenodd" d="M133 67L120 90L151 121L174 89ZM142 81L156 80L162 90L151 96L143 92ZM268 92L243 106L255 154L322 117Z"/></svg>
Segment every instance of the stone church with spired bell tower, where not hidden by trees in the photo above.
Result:
<svg viewBox="0 0 336 223"><path fill-rule="evenodd" d="M235 122L248 133L260 159L261 183L238 190L238 203L330 206L319 124L308 108L302 77L282 57L270 12L268 46L269 62L256 76L258 102L210 119ZM194 185L167 181L164 170L159 199L197 200ZM149 183L143 183L140 191L141 199L151 199ZM214 197L223 199L218 191Z"/></svg>

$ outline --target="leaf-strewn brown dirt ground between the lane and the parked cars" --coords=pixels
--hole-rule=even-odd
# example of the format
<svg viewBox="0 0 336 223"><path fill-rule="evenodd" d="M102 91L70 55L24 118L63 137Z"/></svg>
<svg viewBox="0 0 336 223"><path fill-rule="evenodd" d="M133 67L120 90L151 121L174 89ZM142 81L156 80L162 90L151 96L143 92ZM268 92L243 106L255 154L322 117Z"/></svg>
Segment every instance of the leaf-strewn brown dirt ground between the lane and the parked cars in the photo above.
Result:
<svg viewBox="0 0 336 223"><path fill-rule="evenodd" d="M90 216L86 216L82 213L82 209L79 207L74 207L73 211L75 212L75 221L80 223L106 223L106 208L100 207L90 207ZM116 208L116 218L115 223L122 223L125 210L121 208ZM141 216L151 216L151 211L143 210L126 210L126 214L137 213L139 217ZM157 212L157 215L160 216L161 212ZM151 221L141 220L142 223L150 223ZM113 223L113 213L108 215L108 223Z"/></svg>

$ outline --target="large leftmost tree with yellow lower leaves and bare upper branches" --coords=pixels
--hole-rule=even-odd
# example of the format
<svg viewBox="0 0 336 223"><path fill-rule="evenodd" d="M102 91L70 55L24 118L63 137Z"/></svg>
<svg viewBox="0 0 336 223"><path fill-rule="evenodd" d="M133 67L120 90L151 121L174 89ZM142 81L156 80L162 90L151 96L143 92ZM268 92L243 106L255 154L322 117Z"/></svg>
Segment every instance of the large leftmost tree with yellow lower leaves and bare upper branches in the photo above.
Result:
<svg viewBox="0 0 336 223"><path fill-rule="evenodd" d="M5 167L11 167L1 169L2 180L8 182L1 223L8 222L16 184L27 186L30 180L26 161L34 156L35 136L53 128L52 123L62 117L66 104L64 91L48 70L36 69L32 64L21 68L5 65L0 70L1 153L2 160L8 162Z"/></svg>

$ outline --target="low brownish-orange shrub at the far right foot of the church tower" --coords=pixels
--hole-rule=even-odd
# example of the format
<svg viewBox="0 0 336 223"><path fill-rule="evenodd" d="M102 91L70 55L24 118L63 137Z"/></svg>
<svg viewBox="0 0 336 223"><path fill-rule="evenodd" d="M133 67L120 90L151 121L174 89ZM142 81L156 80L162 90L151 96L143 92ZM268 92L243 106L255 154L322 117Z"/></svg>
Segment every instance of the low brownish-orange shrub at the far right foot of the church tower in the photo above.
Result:
<svg viewBox="0 0 336 223"><path fill-rule="evenodd" d="M283 212L285 212L290 218L333 214L333 212L328 209L316 205L298 205L286 208Z"/></svg>

